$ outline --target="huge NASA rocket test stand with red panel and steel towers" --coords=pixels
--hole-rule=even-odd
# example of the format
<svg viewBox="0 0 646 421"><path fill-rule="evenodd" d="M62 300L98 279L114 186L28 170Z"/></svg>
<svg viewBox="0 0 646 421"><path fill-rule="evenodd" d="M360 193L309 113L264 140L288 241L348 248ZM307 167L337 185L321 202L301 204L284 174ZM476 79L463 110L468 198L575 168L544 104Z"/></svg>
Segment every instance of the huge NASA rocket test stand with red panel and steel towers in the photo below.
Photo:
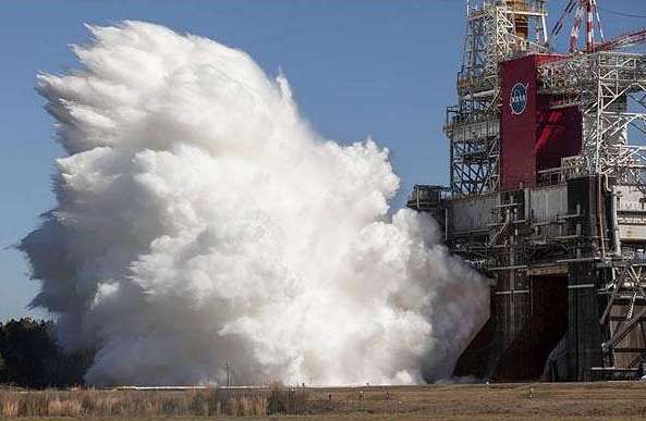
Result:
<svg viewBox="0 0 646 421"><path fill-rule="evenodd" d="M490 320L455 374L634 377L646 363L646 55L599 51L594 25L585 51L575 38L554 53L543 3L468 8L450 186L417 185L409 207L495 280ZM596 13L571 3L575 25Z"/></svg>

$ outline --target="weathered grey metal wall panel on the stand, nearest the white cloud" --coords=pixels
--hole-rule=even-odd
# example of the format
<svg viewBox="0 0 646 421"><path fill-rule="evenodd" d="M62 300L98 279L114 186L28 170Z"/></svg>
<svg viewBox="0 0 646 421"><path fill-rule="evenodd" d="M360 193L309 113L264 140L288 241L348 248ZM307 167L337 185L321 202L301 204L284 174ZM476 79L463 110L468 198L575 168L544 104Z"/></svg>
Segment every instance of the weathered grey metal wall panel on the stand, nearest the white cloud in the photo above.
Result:
<svg viewBox="0 0 646 421"><path fill-rule="evenodd" d="M449 206L454 233L486 231L491 210L500 203L499 195L476 195L452 200Z"/></svg>

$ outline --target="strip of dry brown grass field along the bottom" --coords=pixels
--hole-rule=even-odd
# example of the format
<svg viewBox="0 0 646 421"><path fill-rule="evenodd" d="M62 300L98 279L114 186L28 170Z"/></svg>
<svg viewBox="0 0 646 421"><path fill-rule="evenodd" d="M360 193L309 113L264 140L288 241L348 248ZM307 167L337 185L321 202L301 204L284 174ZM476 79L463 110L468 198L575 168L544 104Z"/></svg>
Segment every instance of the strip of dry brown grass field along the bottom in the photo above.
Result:
<svg viewBox="0 0 646 421"><path fill-rule="evenodd" d="M13 404L11 404L13 403ZM3 419L636 420L646 383L429 385L246 391L0 391Z"/></svg>

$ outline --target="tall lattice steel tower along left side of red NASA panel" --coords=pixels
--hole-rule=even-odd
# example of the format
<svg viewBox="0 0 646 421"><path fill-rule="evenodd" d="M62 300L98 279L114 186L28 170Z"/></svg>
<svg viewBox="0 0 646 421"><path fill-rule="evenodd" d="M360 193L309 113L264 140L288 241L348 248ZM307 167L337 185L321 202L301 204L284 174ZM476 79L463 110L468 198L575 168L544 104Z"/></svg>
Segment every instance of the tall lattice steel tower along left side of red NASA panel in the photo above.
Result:
<svg viewBox="0 0 646 421"><path fill-rule="evenodd" d="M447 109L450 187L454 196L497 191L500 157L498 64L517 54L546 51L543 0L485 0L467 9L459 103ZM533 28L535 39L531 40Z"/></svg>

